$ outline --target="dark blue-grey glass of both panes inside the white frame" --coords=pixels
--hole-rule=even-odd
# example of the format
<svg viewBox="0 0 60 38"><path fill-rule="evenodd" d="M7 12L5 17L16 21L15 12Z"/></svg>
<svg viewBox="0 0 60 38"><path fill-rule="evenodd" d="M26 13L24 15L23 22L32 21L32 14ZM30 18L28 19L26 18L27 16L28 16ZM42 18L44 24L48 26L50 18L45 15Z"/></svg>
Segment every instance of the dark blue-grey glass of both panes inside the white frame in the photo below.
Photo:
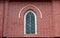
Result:
<svg viewBox="0 0 60 38"><path fill-rule="evenodd" d="M26 15L26 34L35 34L35 16L32 12Z"/></svg>

